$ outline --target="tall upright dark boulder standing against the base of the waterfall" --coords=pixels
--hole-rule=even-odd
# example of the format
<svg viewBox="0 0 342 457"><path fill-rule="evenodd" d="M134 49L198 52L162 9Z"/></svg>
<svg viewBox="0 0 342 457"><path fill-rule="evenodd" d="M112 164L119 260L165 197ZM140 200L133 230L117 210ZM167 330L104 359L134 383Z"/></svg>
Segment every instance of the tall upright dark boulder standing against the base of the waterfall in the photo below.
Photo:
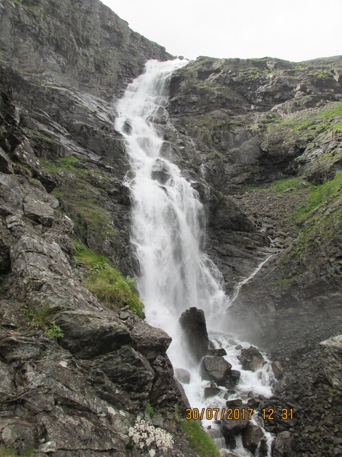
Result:
<svg viewBox="0 0 342 457"><path fill-rule="evenodd" d="M208 352L209 338L205 313L198 308L190 308L182 313L179 323L185 335L185 341L196 362Z"/></svg>

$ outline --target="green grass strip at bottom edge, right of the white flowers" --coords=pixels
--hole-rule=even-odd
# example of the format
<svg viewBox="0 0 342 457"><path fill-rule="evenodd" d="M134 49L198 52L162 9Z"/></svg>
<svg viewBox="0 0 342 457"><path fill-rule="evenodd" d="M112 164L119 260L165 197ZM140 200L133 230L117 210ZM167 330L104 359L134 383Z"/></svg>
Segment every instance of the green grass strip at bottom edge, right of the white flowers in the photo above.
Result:
<svg viewBox="0 0 342 457"><path fill-rule="evenodd" d="M220 457L220 451L198 421L181 421L183 430L189 436L189 445L199 457Z"/></svg>

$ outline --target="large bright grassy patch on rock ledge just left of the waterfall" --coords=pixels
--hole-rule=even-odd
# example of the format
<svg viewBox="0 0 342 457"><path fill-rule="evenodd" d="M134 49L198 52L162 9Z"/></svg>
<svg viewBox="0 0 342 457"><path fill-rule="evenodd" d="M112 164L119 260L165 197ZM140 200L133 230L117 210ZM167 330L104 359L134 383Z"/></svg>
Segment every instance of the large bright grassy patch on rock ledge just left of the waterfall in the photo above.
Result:
<svg viewBox="0 0 342 457"><path fill-rule="evenodd" d="M74 240L75 259L90 268L83 282L88 290L109 308L118 310L124 306L142 317L144 304L135 291L135 280L124 277L103 254L96 254Z"/></svg>

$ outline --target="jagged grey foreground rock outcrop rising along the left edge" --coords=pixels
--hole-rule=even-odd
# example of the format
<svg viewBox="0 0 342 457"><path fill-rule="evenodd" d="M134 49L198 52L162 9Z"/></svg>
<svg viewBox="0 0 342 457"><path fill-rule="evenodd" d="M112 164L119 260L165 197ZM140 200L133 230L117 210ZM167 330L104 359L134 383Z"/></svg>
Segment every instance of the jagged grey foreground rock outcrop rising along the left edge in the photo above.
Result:
<svg viewBox="0 0 342 457"><path fill-rule="evenodd" d="M141 455L128 436L140 412L172 433L170 455L194 455L174 421L187 400L166 356L170 337L83 286L75 225L42 185L54 182L21 129L4 71L0 89L1 452Z"/></svg>

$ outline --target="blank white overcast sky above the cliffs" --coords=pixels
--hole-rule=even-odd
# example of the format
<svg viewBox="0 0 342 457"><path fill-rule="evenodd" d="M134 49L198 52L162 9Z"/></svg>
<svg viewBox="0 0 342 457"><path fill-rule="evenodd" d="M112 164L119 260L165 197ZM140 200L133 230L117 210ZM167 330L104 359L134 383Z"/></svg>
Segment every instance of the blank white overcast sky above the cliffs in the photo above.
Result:
<svg viewBox="0 0 342 457"><path fill-rule="evenodd" d="M131 29L195 59L342 54L342 0L102 0Z"/></svg>

